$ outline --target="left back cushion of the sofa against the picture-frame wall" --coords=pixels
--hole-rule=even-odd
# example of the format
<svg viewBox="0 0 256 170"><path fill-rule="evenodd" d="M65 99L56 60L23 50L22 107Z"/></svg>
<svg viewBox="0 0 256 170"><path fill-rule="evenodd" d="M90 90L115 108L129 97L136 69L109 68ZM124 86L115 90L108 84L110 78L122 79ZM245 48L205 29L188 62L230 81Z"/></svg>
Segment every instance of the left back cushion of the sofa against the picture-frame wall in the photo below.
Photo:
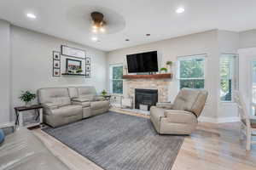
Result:
<svg viewBox="0 0 256 170"><path fill-rule="evenodd" d="M39 104L53 103L58 106L71 105L67 88L40 88L38 102Z"/></svg>

